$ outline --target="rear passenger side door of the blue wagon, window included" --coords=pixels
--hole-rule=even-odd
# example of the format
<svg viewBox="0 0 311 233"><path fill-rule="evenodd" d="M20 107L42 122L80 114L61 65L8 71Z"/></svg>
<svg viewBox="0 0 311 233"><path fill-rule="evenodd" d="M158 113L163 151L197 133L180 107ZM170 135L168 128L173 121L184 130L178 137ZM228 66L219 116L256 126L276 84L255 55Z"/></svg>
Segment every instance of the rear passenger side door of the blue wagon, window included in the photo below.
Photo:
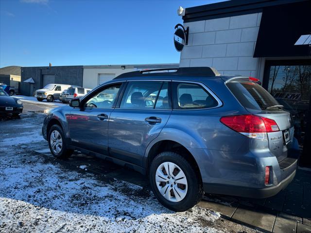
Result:
<svg viewBox="0 0 311 233"><path fill-rule="evenodd" d="M142 166L148 144L172 113L171 82L130 81L109 118L110 156Z"/></svg>

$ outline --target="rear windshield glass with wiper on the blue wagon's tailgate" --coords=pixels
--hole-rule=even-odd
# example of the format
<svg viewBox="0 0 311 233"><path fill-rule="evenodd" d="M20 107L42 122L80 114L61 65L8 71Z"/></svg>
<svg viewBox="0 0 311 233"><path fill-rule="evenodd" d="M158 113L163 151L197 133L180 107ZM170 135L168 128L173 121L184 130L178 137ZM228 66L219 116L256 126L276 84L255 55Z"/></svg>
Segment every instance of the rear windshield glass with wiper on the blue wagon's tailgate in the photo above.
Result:
<svg viewBox="0 0 311 233"><path fill-rule="evenodd" d="M279 104L269 92L257 83L234 81L227 83L227 87L245 108L268 110L268 107ZM276 107L269 110L281 109Z"/></svg>

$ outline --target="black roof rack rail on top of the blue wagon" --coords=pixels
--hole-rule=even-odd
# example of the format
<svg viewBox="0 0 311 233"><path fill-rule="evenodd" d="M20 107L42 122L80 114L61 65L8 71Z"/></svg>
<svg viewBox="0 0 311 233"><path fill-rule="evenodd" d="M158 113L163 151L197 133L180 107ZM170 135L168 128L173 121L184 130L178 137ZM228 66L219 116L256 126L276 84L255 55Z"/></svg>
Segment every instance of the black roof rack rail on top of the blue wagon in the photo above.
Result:
<svg viewBox="0 0 311 233"><path fill-rule="evenodd" d="M167 71L167 72L158 72ZM203 76L214 77L220 76L220 73L213 67L181 67L167 69L148 69L140 71L132 71L119 75L114 79L148 77L148 76Z"/></svg>

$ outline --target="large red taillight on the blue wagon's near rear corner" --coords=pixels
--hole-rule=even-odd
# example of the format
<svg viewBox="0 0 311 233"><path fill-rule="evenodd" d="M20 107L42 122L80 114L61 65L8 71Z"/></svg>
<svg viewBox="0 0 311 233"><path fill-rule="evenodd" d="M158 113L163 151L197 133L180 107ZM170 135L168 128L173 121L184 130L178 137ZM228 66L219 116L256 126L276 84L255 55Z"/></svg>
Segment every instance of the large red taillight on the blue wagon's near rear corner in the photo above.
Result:
<svg viewBox="0 0 311 233"><path fill-rule="evenodd" d="M232 130L251 138L267 139L267 133L279 131L272 119L255 115L223 116L220 121Z"/></svg>

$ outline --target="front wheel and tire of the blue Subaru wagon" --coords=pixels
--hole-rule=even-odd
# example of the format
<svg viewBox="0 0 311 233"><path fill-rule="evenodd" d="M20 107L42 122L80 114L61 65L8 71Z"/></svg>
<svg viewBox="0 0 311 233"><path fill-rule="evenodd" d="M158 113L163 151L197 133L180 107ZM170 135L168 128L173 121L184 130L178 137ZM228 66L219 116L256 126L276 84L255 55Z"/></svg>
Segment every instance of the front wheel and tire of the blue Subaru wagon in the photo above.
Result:
<svg viewBox="0 0 311 233"><path fill-rule="evenodd" d="M48 142L51 153L56 158L69 158L73 152L73 150L67 148L64 131L59 125L53 125L51 127L48 134Z"/></svg>

